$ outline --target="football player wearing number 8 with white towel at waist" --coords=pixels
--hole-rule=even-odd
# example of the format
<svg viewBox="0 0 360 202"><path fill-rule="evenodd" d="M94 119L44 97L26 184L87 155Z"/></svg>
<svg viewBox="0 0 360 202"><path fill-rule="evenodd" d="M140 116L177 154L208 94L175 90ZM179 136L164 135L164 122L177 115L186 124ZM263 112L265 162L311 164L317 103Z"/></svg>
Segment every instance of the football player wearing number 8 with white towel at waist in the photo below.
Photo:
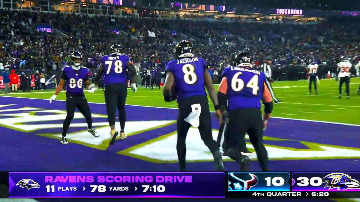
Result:
<svg viewBox="0 0 360 202"><path fill-rule="evenodd" d="M203 59L194 56L192 53L192 43L189 41L180 41L176 45L174 52L177 60L171 61L165 68L166 79L163 95L166 102L171 102L177 98L179 105L176 151L180 170L186 170L185 139L190 126L193 125L198 127L201 139L213 155L215 170L224 171L219 146L212 138L210 110L204 88L204 86L207 88L216 113L220 116L221 120L216 90L212 86L207 64ZM174 86L178 96L174 95Z"/></svg>

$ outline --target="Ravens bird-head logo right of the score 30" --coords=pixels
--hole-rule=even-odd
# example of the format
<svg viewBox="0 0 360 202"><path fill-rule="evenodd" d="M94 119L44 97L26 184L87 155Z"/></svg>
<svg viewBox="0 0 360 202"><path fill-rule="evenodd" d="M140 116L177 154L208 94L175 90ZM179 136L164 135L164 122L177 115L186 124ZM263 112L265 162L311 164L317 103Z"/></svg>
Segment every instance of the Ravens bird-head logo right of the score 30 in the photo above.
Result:
<svg viewBox="0 0 360 202"><path fill-rule="evenodd" d="M326 182L324 188L337 190L346 189L360 189L360 183L356 179L351 179L351 176L344 173L331 173L323 178L323 182Z"/></svg>

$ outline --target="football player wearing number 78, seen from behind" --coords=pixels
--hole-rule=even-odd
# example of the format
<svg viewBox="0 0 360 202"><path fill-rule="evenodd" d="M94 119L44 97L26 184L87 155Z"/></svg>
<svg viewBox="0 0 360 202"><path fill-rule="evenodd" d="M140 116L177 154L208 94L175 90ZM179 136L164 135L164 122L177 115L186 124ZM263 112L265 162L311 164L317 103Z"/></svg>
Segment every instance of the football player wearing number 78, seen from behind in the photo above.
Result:
<svg viewBox="0 0 360 202"><path fill-rule="evenodd" d="M105 84L105 104L108 114L108 121L111 128L110 144L114 144L119 132L115 129L116 108L119 110L120 119L120 139L125 139L125 101L127 97L127 70L132 75L131 88L136 92L136 69L130 62L129 56L124 54L120 45L111 46L112 54L104 55L100 58L98 73L95 77L95 83L98 84L100 78L104 75ZM90 91L95 91L96 85L91 84Z"/></svg>

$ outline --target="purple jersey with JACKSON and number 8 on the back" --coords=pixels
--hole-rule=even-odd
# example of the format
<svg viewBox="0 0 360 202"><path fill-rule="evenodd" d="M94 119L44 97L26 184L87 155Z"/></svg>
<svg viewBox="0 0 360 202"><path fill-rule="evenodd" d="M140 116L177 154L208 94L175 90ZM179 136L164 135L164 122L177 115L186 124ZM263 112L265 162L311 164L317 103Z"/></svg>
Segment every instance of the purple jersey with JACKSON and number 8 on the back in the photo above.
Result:
<svg viewBox="0 0 360 202"><path fill-rule="evenodd" d="M173 60L167 64L167 71L174 74L177 89L177 102L187 97L206 96L204 88L204 72L206 62L201 58L184 58Z"/></svg>

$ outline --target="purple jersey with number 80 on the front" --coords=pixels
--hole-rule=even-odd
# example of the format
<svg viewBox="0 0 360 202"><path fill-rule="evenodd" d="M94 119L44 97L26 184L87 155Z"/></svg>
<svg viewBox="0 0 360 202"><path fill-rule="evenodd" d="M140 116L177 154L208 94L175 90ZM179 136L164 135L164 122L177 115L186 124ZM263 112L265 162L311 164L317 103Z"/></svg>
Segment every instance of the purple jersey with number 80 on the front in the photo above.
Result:
<svg viewBox="0 0 360 202"><path fill-rule="evenodd" d="M82 66L79 70L65 66L61 78L66 81L67 95L84 95L85 81L89 80L89 69Z"/></svg>

